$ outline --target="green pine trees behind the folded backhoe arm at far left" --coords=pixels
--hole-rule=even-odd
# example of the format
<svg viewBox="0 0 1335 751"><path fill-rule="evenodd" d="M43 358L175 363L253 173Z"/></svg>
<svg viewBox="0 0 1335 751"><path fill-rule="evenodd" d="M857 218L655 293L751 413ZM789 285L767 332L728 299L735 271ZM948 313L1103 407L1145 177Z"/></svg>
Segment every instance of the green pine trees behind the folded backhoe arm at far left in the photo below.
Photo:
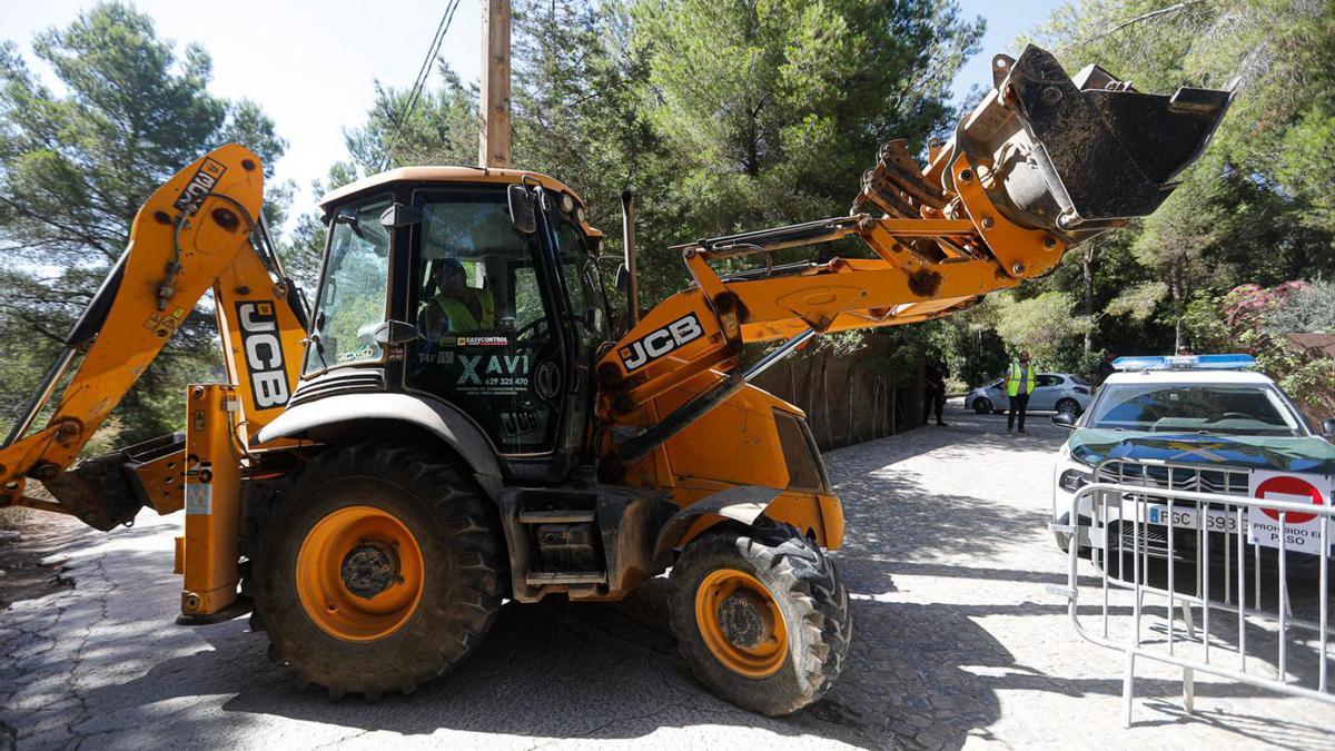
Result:
<svg viewBox="0 0 1335 751"><path fill-rule="evenodd" d="M208 94L202 47L178 53L128 5L95 5L39 33L32 52L59 92L16 44L0 44L0 338L19 350L0 370L11 398L0 422L15 418L163 180L227 142L256 151L266 170L286 148L256 104ZM270 219L287 194L268 190ZM208 374L218 351L211 315L191 315L121 404L124 440L179 428L186 382Z"/></svg>

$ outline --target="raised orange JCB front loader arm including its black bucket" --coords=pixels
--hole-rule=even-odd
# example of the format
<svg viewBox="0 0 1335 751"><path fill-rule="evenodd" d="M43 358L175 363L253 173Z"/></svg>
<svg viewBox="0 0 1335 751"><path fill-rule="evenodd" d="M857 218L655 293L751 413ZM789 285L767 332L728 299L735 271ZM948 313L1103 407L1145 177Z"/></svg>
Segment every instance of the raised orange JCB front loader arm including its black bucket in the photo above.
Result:
<svg viewBox="0 0 1335 751"><path fill-rule="evenodd" d="M848 216L678 246L694 283L649 311L597 366L603 418L642 429L617 449L622 462L643 458L757 374L736 371L745 343L788 339L781 351L789 351L813 333L949 315L1152 212L1232 96L1140 94L1093 65L1071 79L1032 45L1017 60L996 56L993 72L993 90L949 140L929 146L925 167L905 142L882 146ZM861 241L870 258L769 261L776 250L844 238ZM728 274L714 267L746 257L766 262ZM688 382L698 392L690 401L649 417L646 405Z"/></svg>

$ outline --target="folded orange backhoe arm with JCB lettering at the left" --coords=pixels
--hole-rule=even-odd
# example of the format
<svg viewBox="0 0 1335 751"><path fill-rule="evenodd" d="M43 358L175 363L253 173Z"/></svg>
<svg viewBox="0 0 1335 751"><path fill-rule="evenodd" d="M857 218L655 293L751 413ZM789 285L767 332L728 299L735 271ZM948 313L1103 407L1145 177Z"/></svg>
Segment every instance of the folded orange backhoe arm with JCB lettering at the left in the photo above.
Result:
<svg viewBox="0 0 1335 751"><path fill-rule="evenodd" d="M230 405L236 440L244 448L282 412L296 382L306 314L268 243L263 190L259 158L228 144L144 202L128 247L0 448L0 506L71 513L99 529L128 522L143 505L160 513L182 506L180 436L71 465L210 290L224 380L238 386L239 404ZM25 496L29 480L56 502Z"/></svg>

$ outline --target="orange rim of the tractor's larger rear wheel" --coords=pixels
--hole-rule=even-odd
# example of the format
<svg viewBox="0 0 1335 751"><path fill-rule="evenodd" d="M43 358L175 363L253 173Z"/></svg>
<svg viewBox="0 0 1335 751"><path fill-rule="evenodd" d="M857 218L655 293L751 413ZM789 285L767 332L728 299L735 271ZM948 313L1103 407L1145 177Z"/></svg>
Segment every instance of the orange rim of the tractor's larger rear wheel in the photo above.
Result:
<svg viewBox="0 0 1335 751"><path fill-rule="evenodd" d="M296 595L306 615L344 641L398 631L422 600L422 548L392 513L338 509L319 520L296 556Z"/></svg>

